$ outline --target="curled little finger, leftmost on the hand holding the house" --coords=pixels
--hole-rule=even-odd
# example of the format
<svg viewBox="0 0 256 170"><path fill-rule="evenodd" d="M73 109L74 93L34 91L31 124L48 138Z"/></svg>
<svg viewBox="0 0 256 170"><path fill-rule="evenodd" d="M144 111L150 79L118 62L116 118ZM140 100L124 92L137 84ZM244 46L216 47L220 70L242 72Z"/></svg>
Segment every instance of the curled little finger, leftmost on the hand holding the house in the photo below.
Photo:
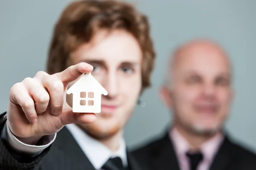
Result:
<svg viewBox="0 0 256 170"><path fill-rule="evenodd" d="M16 105L20 105L26 118L29 122L37 122L37 113L35 111L35 104L31 96L23 85L23 83L16 83L12 86L10 91L10 100Z"/></svg>

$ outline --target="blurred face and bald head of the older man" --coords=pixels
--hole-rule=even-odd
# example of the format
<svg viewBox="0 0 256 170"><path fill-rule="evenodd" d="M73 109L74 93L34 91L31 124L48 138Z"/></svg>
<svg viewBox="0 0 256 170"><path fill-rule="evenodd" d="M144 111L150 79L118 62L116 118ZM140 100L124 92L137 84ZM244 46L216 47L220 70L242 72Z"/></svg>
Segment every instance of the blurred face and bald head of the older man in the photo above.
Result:
<svg viewBox="0 0 256 170"><path fill-rule="evenodd" d="M173 84L163 93L177 125L193 133L215 133L229 113L230 65L221 51L191 47L174 62ZM165 95L166 95L165 94Z"/></svg>

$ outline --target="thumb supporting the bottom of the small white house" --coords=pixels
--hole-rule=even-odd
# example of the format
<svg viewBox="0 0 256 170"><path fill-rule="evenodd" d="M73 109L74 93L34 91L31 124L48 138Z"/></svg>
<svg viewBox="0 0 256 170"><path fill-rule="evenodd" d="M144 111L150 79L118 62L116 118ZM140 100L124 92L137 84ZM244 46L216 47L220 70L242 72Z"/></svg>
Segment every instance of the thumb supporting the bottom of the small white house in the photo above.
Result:
<svg viewBox="0 0 256 170"><path fill-rule="evenodd" d="M59 116L62 125L68 125L72 123L89 124L96 121L96 115L94 113L74 113L72 108L63 109Z"/></svg>

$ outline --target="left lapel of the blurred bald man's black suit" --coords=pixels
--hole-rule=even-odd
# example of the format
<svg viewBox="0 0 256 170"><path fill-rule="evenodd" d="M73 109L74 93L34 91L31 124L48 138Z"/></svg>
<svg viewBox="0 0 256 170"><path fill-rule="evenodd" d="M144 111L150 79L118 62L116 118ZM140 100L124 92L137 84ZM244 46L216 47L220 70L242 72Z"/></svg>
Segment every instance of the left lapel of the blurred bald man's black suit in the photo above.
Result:
<svg viewBox="0 0 256 170"><path fill-rule="evenodd" d="M179 170L179 165L172 142L168 133L161 139L158 148L154 150L154 170L166 170L166 167L172 167L172 170Z"/></svg>

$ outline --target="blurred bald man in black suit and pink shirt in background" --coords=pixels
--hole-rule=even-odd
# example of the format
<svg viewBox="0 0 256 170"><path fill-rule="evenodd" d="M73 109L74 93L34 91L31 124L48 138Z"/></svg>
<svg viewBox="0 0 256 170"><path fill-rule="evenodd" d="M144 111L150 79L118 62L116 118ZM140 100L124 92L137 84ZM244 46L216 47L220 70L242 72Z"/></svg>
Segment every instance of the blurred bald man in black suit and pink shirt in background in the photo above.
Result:
<svg viewBox="0 0 256 170"><path fill-rule="evenodd" d="M233 98L224 50L208 40L180 46L160 90L173 113L168 132L134 151L147 170L256 170L256 155L223 130Z"/></svg>

